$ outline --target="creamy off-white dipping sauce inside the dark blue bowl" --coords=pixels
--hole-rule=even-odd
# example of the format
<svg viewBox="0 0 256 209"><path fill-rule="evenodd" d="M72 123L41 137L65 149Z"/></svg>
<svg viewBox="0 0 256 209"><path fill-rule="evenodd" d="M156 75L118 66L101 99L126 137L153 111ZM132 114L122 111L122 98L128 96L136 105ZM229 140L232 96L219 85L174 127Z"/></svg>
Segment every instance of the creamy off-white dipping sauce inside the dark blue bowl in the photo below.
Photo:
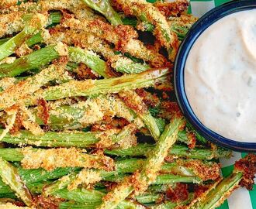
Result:
<svg viewBox="0 0 256 209"><path fill-rule="evenodd" d="M209 26L192 46L184 74L189 104L203 125L256 142L256 9Z"/></svg>

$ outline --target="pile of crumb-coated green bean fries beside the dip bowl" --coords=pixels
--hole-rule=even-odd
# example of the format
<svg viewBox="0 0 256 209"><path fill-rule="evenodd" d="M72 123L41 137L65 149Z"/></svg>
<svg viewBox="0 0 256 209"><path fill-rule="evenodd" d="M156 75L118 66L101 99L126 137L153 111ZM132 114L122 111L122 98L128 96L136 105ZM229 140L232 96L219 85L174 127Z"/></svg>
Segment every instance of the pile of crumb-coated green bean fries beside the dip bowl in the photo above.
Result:
<svg viewBox="0 0 256 209"><path fill-rule="evenodd" d="M186 121L171 84L188 0L0 1L0 208L209 209L256 156Z"/></svg>

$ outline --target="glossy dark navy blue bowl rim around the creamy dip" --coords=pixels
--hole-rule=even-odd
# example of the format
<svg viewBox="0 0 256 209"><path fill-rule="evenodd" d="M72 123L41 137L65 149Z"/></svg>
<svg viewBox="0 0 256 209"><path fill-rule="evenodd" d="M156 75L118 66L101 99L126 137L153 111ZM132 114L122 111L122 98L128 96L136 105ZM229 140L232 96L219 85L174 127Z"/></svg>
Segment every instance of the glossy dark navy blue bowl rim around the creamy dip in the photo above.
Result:
<svg viewBox="0 0 256 209"><path fill-rule="evenodd" d="M209 141L216 143L220 146L226 147L228 149L233 149L239 152L256 152L256 142L237 142L232 139L227 139L222 135L213 132L209 128L199 121L195 116L192 108L189 105L188 98L185 94L184 85L184 69L185 62L189 55L189 50L195 43L195 40L200 36L201 33L209 26L216 22L217 20L223 18L226 15L230 15L234 12L239 12L247 9L256 9L256 0L236 0L233 2L227 2L224 5L220 5L203 15L192 29L189 30L188 35L185 37L182 45L178 50L178 55L175 60L175 93L178 99L178 104L182 109L183 114L189 120L189 122L194 126L202 136Z"/></svg>

